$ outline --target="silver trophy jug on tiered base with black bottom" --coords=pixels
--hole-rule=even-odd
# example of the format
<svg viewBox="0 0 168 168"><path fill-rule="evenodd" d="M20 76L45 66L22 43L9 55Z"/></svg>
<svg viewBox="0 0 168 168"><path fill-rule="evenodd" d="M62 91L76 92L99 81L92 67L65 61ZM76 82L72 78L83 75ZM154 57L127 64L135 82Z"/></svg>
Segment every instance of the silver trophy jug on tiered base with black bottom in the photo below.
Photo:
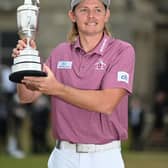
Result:
<svg viewBox="0 0 168 168"><path fill-rule="evenodd" d="M46 76L39 52L29 45L38 30L39 3L39 0L24 0L24 5L17 8L18 34L21 39L27 39L27 46L13 60L9 79L16 83L20 83L24 76Z"/></svg>

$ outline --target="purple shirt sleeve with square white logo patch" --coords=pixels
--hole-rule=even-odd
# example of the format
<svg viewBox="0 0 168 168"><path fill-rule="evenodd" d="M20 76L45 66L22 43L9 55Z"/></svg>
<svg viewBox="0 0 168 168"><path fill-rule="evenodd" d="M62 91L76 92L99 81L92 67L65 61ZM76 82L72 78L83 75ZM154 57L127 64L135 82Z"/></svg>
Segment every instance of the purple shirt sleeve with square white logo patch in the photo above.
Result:
<svg viewBox="0 0 168 168"><path fill-rule="evenodd" d="M129 45L118 53L109 66L103 81L102 89L124 88L132 93L134 79L135 52Z"/></svg>

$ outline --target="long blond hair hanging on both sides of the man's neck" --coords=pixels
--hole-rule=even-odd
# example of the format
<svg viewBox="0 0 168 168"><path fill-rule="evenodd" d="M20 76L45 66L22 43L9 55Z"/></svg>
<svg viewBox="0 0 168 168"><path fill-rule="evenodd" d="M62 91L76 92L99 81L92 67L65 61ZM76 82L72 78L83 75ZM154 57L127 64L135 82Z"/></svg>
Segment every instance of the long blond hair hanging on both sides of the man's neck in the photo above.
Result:
<svg viewBox="0 0 168 168"><path fill-rule="evenodd" d="M111 36L111 33L110 33L107 25L104 26L104 33L107 34L108 36ZM78 26L76 23L72 23L72 29L70 30L70 32L67 36L67 40L70 43L74 43L76 41L78 35L79 35Z"/></svg>

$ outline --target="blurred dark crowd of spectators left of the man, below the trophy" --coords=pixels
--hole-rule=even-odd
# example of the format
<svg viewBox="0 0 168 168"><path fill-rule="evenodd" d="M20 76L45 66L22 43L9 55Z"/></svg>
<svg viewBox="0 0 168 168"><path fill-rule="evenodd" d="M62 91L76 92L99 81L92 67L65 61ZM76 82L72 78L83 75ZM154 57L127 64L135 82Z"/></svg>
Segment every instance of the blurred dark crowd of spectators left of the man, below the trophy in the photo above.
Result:
<svg viewBox="0 0 168 168"><path fill-rule="evenodd" d="M51 152L48 139L50 106L49 100L41 96L32 104L20 104L16 84L9 81L11 73L7 65L0 66L0 154L24 158L25 138L34 154ZM28 121L28 126L25 123ZM27 129L25 129L27 128ZM25 135L25 138L24 136Z"/></svg>

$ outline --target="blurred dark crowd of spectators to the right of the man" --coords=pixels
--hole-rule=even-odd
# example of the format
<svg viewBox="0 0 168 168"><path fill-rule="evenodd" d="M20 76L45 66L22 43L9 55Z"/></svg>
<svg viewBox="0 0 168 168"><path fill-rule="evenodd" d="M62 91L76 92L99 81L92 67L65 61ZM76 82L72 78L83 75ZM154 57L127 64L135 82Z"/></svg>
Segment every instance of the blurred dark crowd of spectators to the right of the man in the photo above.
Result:
<svg viewBox="0 0 168 168"><path fill-rule="evenodd" d="M168 150L168 58L158 72L151 104L133 95L129 106L130 148Z"/></svg>

